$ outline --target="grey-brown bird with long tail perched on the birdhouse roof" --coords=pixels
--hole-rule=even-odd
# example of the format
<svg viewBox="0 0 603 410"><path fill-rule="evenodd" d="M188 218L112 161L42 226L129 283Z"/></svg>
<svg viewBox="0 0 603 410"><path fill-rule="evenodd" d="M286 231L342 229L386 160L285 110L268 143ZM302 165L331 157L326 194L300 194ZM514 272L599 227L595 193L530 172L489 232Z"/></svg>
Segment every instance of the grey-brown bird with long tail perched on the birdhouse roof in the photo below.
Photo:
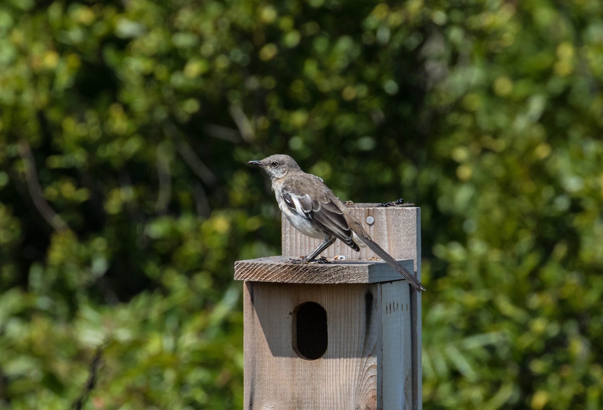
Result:
<svg viewBox="0 0 603 410"><path fill-rule="evenodd" d="M270 176L279 208L291 224L305 235L324 239L299 262L312 262L322 251L341 239L355 251L366 245L402 274L417 291L425 291L421 282L371 239L362 224L346 205L335 197L321 178L301 171L288 155L277 154L248 164L259 165Z"/></svg>

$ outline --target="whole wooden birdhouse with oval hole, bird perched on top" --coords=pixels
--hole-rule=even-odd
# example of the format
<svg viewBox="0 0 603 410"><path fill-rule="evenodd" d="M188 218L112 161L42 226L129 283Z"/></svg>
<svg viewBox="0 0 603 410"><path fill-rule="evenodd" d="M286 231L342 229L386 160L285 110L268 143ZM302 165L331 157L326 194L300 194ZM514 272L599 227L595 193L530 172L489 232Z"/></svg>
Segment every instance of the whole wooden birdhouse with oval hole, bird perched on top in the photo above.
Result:
<svg viewBox="0 0 603 410"><path fill-rule="evenodd" d="M420 209L351 210L420 279ZM235 263L244 280L244 408L421 409L421 295L370 249L339 241L323 256L344 260L288 263L320 241L285 218L282 232L286 256Z"/></svg>

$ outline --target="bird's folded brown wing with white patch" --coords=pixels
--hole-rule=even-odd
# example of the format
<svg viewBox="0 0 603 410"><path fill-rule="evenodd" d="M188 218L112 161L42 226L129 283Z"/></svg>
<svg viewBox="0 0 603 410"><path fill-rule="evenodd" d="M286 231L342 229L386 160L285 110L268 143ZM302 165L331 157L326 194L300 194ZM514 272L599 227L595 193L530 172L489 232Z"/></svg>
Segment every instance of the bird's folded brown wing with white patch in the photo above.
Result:
<svg viewBox="0 0 603 410"><path fill-rule="evenodd" d="M280 195L294 212L311 219L325 232L341 239L353 250L359 247L352 238L352 229L339 209L339 201L323 181L312 174L295 175L282 185Z"/></svg>

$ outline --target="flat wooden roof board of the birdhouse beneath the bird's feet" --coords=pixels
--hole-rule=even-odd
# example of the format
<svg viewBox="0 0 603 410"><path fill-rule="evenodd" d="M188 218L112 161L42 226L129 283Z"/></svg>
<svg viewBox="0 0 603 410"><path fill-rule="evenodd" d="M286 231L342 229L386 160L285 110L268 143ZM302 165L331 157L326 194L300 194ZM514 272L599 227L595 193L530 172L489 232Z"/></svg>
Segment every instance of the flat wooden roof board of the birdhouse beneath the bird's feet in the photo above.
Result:
<svg viewBox="0 0 603 410"><path fill-rule="evenodd" d="M235 280L280 283L376 283L403 277L381 260L295 264L288 256L271 256L235 262ZM409 271L412 260L400 260ZM405 280L406 282L406 280Z"/></svg>

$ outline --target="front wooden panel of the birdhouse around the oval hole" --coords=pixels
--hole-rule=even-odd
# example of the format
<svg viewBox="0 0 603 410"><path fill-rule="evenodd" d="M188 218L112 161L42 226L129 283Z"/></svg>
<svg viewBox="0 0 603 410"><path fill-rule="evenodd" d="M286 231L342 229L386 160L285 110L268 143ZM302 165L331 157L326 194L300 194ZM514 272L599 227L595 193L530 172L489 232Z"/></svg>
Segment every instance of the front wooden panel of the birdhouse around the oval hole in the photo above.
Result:
<svg viewBox="0 0 603 410"><path fill-rule="evenodd" d="M376 410L377 286L245 282L244 408ZM292 348L292 312L306 301L327 313L327 350L312 361Z"/></svg>

